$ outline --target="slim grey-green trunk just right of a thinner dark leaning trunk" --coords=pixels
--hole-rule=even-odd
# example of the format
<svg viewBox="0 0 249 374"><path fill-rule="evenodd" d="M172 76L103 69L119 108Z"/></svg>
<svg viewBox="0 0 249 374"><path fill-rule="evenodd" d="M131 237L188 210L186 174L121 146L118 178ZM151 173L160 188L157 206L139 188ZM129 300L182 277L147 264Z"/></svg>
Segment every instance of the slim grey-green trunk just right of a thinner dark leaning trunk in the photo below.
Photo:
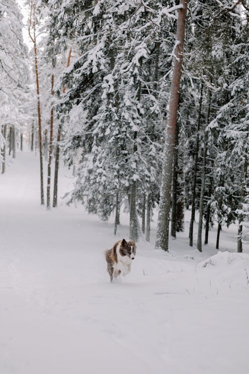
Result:
<svg viewBox="0 0 249 374"><path fill-rule="evenodd" d="M202 252L202 219L204 211L204 193L205 193L205 181L206 181L206 156L208 146L208 133L207 127L209 124L210 114L210 103L211 103L211 91L208 90L208 108L206 116L206 126L204 131L204 148L203 148L203 159L202 159L202 174L201 174L201 194L200 194L200 207L199 207L199 224L198 224L198 237L197 237L197 249Z"/></svg>

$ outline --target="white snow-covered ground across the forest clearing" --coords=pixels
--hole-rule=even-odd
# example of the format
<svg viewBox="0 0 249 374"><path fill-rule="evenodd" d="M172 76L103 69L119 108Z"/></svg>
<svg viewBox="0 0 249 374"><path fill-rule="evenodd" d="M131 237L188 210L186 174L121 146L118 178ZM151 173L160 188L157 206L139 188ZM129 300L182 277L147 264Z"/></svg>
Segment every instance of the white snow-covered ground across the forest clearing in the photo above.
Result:
<svg viewBox="0 0 249 374"><path fill-rule="evenodd" d="M200 253L187 213L167 254L153 249L152 222L151 243L139 240L131 273L111 284L103 250L127 238L127 215L116 238L113 217L61 198L47 211L38 168L38 156L18 152L0 175L1 374L249 373L249 245L231 253L236 226L218 254L213 228ZM73 179L59 174L62 196Z"/></svg>

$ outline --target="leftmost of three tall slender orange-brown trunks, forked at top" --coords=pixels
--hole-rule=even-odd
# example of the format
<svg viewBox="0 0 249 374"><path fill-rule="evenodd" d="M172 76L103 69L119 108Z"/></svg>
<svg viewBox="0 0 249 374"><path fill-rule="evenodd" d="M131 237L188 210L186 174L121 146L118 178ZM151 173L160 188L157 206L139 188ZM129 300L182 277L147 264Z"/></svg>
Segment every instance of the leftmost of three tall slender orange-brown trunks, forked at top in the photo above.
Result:
<svg viewBox="0 0 249 374"><path fill-rule="evenodd" d="M31 35L31 28L33 35ZM40 190L41 190L41 205L44 204L44 190L43 190L43 162L42 162L42 131L41 131L41 107L40 107L40 90L39 90L39 73L38 73L38 60L37 60L37 47L36 47L36 14L35 2L30 2L30 15L28 25L29 37L34 44L34 65L36 77L36 93L37 93L37 115L38 115L38 130L39 130L39 152L40 152Z"/></svg>

